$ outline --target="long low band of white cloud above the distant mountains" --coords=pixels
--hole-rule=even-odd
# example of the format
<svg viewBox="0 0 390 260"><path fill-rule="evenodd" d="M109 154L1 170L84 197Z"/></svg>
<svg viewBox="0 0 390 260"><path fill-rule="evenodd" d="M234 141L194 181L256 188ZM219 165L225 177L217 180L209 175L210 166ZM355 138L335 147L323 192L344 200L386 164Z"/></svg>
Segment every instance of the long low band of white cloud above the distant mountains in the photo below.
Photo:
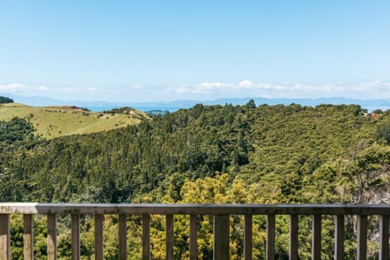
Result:
<svg viewBox="0 0 390 260"><path fill-rule="evenodd" d="M128 85L111 88L91 87L49 87L26 86L20 83L0 85L0 92L22 95L50 96L52 98L93 100L127 100L135 99L166 101L180 99L217 99L251 97L289 97L319 98L344 96L360 99L390 99L390 82L370 81L362 83L300 83L300 82L251 82L243 80L238 83L203 82L199 84L178 84L169 86ZM81 98L80 98L81 97ZM142 100L140 100L142 99Z"/></svg>

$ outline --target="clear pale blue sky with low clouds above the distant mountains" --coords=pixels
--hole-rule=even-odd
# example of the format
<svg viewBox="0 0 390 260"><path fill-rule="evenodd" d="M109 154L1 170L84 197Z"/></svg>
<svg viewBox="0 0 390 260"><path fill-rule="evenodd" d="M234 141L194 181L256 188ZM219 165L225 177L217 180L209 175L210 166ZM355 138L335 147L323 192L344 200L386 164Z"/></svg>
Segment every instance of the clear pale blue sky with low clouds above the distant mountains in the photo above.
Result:
<svg viewBox="0 0 390 260"><path fill-rule="evenodd" d="M2 1L0 92L390 98L390 1Z"/></svg>

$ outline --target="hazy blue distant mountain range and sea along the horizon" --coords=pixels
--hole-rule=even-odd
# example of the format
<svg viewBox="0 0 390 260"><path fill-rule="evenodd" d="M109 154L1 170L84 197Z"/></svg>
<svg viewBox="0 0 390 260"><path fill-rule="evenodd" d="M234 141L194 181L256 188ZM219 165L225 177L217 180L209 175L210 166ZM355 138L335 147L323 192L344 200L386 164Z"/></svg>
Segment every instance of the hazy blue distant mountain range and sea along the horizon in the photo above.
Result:
<svg viewBox="0 0 390 260"><path fill-rule="evenodd" d="M244 105L249 100L254 100L256 105L268 104L277 105L284 104L289 105L291 103L300 104L302 106L317 106L319 104L356 104L361 105L363 108L372 111L376 108L387 110L390 109L390 100L360 100L360 99L348 99L348 98L318 98L318 99L267 99L267 98L222 98L217 100L178 100L170 102L140 102L140 103L124 103L124 102L106 102L106 101L63 101L51 98L43 98L40 96L20 96L14 94L0 93L2 96L8 96L16 103L23 103L29 106L60 106L60 105L73 105L78 107L86 107L94 111L99 111L99 108L115 108L115 107L134 107L141 110L177 110L180 108L189 108L198 103L204 105L224 105L226 103L233 105ZM142 108L145 109L142 109Z"/></svg>

